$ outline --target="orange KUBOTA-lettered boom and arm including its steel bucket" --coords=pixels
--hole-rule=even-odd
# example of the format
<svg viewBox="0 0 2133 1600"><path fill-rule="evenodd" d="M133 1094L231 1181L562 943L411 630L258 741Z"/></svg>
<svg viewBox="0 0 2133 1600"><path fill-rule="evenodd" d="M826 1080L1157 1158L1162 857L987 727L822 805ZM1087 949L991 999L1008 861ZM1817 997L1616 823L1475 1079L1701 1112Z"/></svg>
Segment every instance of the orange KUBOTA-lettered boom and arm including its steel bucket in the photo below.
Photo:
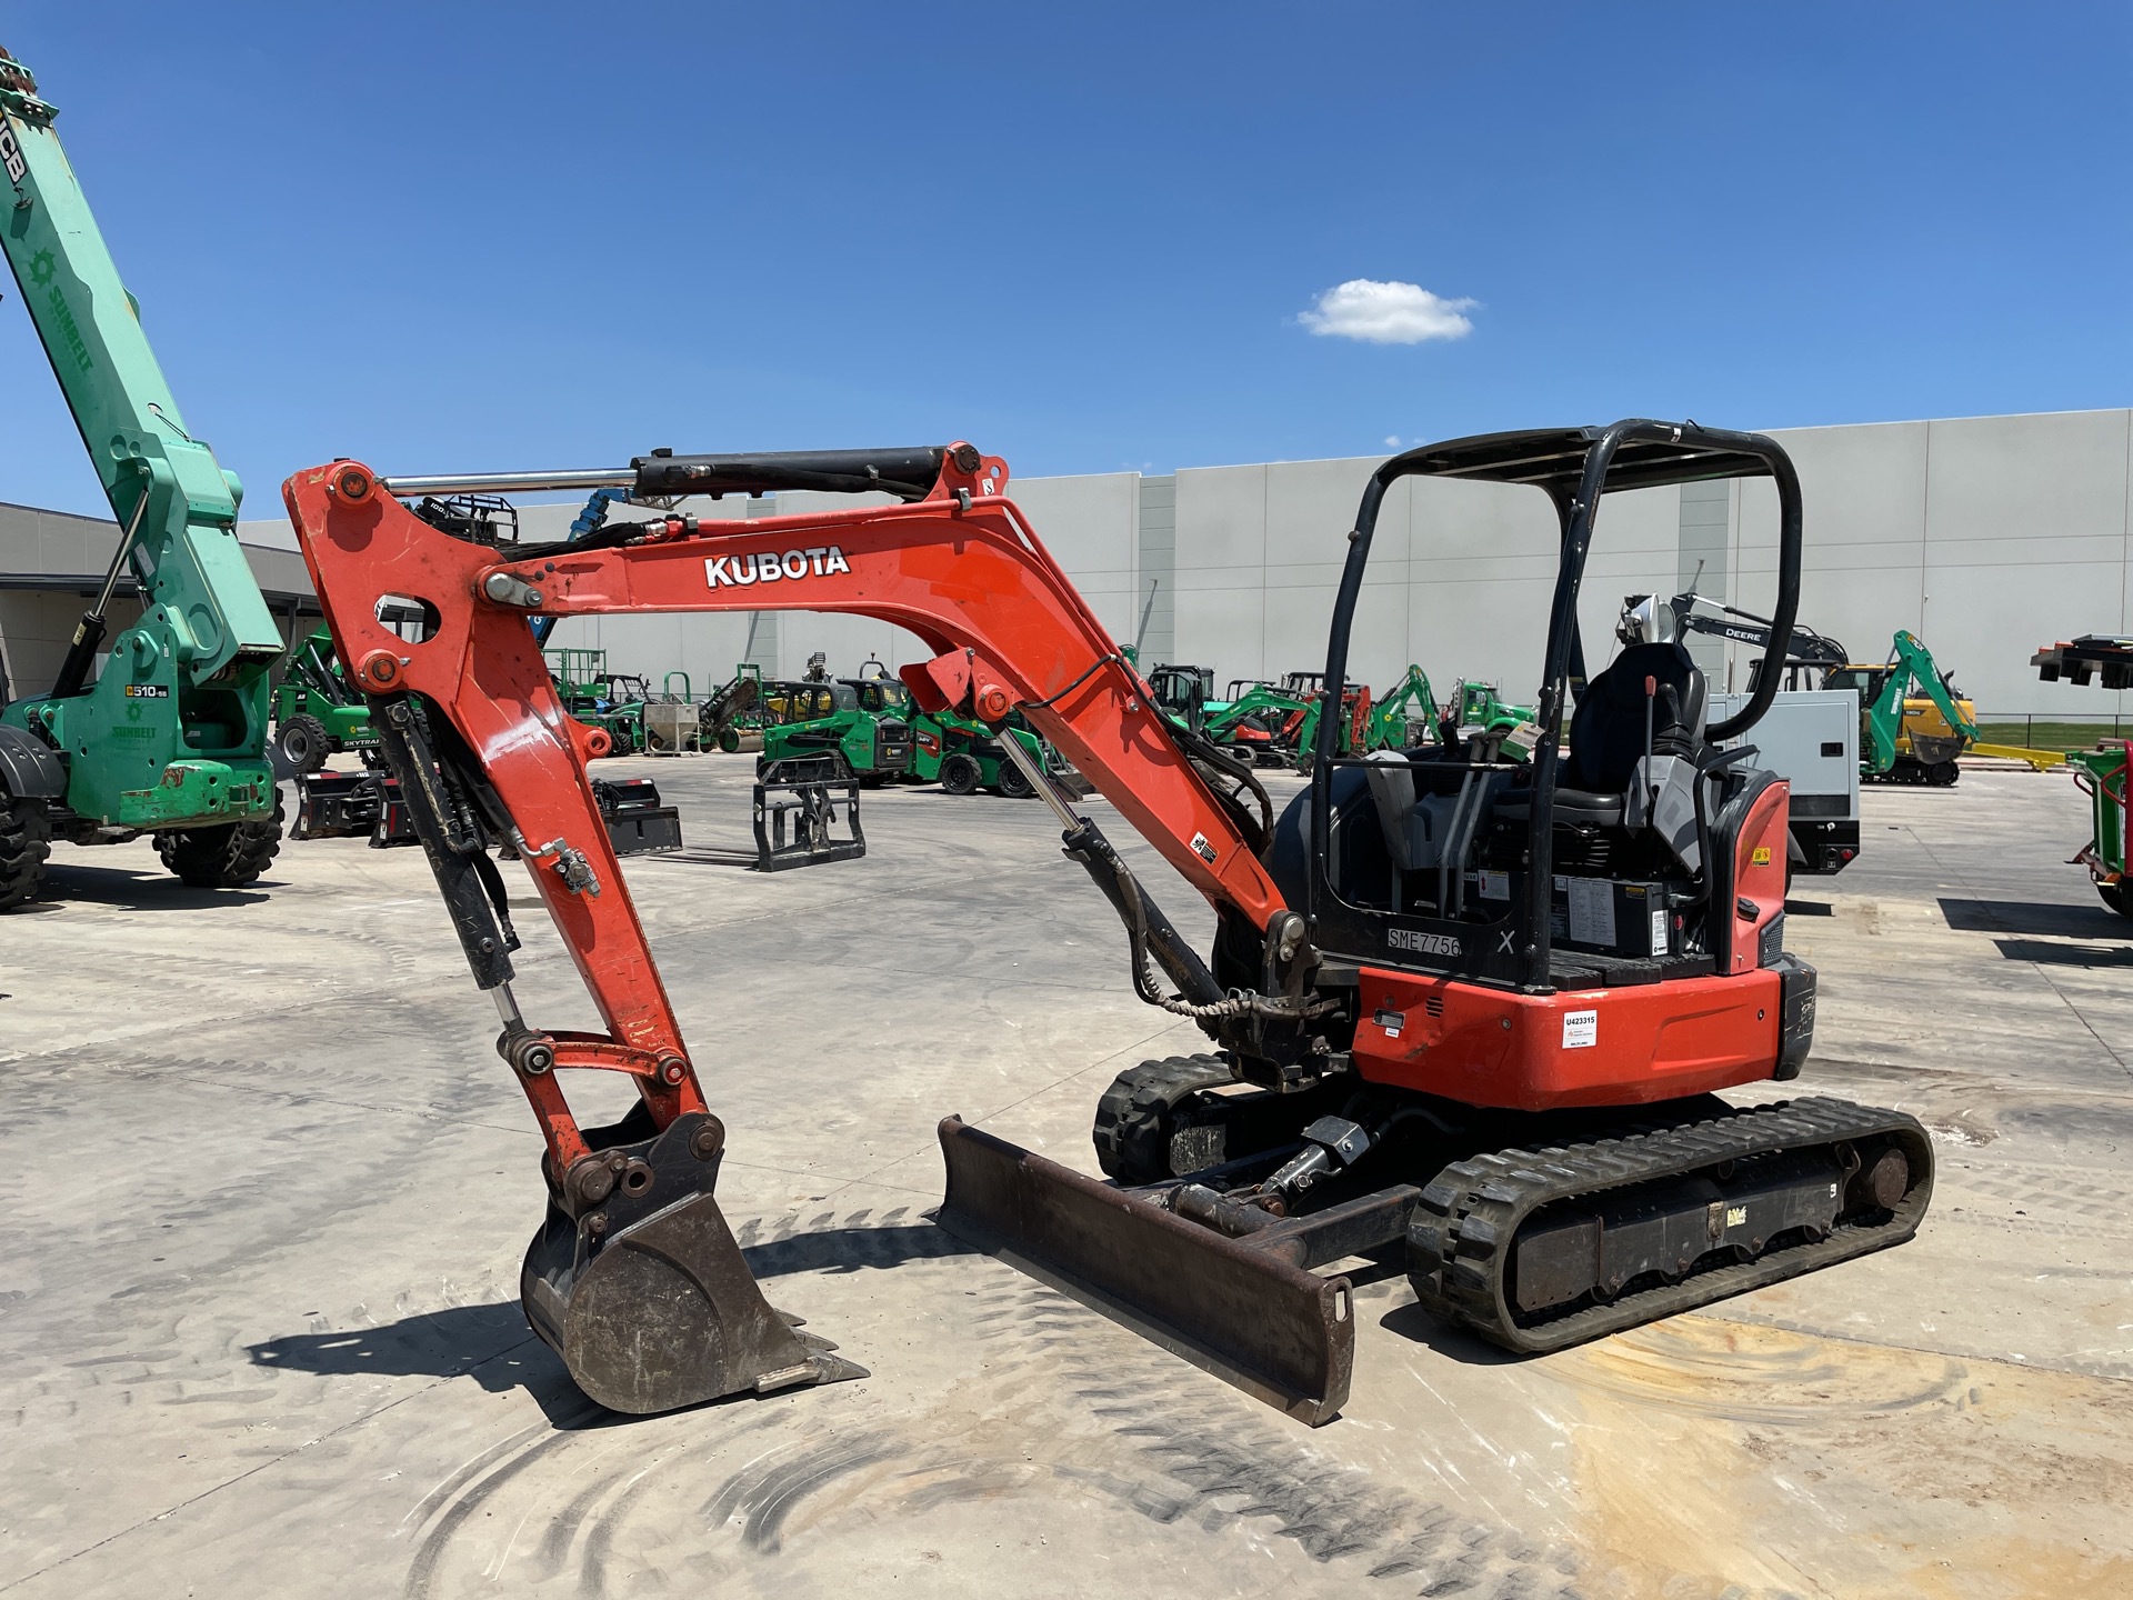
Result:
<svg viewBox="0 0 2133 1600"><path fill-rule="evenodd" d="M416 480L380 480L354 461L296 474L284 499L339 659L371 695L476 983L503 1018L499 1054L542 1124L550 1214L527 1254L529 1321L595 1399L644 1412L853 1370L764 1306L717 1212L710 1188L725 1135L584 772L589 757L606 753L606 734L565 713L529 617L828 610L907 627L934 653L902 670L921 708L953 708L994 727L1020 710L1216 907L1226 930L1241 924L1258 934L1254 986L1218 983L1096 826L1030 770L1060 813L1066 853L1126 922L1143 998L1212 1033L1263 1043L1269 1030L1301 1033L1316 954L1303 917L1258 860L1248 815L1201 774L1180 745L1190 736L1167 723L1007 499L1003 461L968 444L648 457L623 478L644 499L889 489L902 503L747 523L665 514L608 521L555 546L495 548L452 538L401 506L395 493L418 493ZM410 627L388 617L422 621ZM1220 770L1218 751L1194 755ZM508 843L531 870L604 1033L540 1028L520 1013L510 988L516 937L491 843ZM1148 958L1180 996L1154 992ZM559 1084L563 1069L627 1073L640 1105L610 1129L584 1129ZM665 1308L651 1335L648 1306Z"/></svg>

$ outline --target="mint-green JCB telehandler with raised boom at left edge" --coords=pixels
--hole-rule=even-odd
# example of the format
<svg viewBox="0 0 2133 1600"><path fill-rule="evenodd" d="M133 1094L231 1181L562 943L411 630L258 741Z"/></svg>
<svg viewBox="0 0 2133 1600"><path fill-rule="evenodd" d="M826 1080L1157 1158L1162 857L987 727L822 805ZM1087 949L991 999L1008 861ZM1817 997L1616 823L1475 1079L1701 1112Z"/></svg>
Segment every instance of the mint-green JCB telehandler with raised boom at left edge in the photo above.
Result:
<svg viewBox="0 0 2133 1600"><path fill-rule="evenodd" d="M267 676L282 634L237 544L243 486L188 433L36 79L0 51L0 250L122 529L49 693L0 708L0 911L51 838L154 834L196 887L252 883L279 849ZM141 621L105 640L132 572ZM98 670L98 657L107 657Z"/></svg>

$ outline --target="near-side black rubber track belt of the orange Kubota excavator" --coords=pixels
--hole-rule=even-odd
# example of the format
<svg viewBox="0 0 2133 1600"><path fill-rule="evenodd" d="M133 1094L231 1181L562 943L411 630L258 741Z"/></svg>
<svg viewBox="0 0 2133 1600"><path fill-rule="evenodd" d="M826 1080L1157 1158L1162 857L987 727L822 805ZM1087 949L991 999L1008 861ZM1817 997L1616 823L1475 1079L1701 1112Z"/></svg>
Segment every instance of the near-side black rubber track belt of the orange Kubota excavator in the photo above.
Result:
<svg viewBox="0 0 2133 1600"><path fill-rule="evenodd" d="M1510 1244L1542 1205L1681 1178L1719 1161L1877 1135L1896 1135L1911 1163L1911 1190L1886 1222L1839 1222L1817 1244L1691 1271L1677 1284L1621 1295L1538 1325L1521 1327L1512 1321L1506 1295ZM1485 1340L1521 1355L1561 1350L1903 1244L1918 1233L1930 1197L1932 1141L1915 1118L1849 1101L1781 1101L1659 1133L1455 1161L1429 1182L1414 1207L1408 1225L1408 1280L1425 1310Z"/></svg>

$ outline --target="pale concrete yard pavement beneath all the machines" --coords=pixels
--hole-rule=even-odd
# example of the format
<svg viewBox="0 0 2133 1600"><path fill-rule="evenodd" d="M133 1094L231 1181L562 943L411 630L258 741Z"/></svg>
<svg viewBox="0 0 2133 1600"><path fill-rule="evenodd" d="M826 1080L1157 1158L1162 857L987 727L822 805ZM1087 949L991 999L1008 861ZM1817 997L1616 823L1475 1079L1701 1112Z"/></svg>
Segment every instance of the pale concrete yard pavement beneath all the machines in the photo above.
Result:
<svg viewBox="0 0 2133 1600"><path fill-rule="evenodd" d="M215 896L58 847L0 919L0 1594L2133 1591L2133 926L2063 864L2063 774L1869 789L1862 862L1796 890L1800 1088L1932 1126L1918 1242L1538 1361L1367 1271L1305 1431L924 1220L943 1114L1094 1171L1111 1075L1199 1041L1041 806L870 794L866 860L757 877L721 864L747 759L606 768L683 806L627 870L727 1216L872 1376L576 1395L516 1308L540 1143L418 851L284 845ZM591 1026L520 900L520 1001Z"/></svg>

